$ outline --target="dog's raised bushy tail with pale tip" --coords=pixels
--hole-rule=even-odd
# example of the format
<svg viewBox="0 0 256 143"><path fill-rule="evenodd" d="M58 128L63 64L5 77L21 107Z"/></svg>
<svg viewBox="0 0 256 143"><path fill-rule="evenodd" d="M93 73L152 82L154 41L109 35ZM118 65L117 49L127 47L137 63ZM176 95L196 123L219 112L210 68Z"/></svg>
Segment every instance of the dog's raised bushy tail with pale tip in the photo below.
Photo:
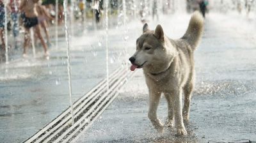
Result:
<svg viewBox="0 0 256 143"><path fill-rule="evenodd" d="M204 31L204 17L199 11L195 11L189 21L189 26L182 37L188 41L192 49L195 50Z"/></svg>

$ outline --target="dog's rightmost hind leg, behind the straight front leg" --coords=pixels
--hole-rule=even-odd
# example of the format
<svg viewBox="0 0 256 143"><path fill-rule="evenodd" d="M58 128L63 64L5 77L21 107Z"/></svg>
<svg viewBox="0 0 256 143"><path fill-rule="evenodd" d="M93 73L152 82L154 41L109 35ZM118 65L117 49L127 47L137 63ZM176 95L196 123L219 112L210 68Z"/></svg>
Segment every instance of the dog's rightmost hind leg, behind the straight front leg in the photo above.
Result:
<svg viewBox="0 0 256 143"><path fill-rule="evenodd" d="M183 87L183 92L184 92L184 107L183 107L183 119L184 121L189 120L189 112L190 112L190 102L191 102L191 96L192 96L192 91L194 88L194 83L193 80L189 81L184 87Z"/></svg>

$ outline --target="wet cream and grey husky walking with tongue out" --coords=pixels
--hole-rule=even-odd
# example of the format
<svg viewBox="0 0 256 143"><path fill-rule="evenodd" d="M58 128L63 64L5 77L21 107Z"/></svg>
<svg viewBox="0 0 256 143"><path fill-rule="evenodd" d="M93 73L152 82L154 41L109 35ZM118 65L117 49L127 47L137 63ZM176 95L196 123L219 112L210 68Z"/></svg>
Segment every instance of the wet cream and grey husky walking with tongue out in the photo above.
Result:
<svg viewBox="0 0 256 143"><path fill-rule="evenodd" d="M158 132L163 132L163 124L157 118L157 106L161 93L168 102L166 126L177 128L178 135L186 135L184 121L189 119L191 93L194 87L194 50L204 30L204 18L195 11L182 38L172 40L164 35L158 25L155 31L143 26L143 34L136 41L136 52L129 60L131 71L143 68L149 91L148 118ZM182 110L182 91L184 107Z"/></svg>

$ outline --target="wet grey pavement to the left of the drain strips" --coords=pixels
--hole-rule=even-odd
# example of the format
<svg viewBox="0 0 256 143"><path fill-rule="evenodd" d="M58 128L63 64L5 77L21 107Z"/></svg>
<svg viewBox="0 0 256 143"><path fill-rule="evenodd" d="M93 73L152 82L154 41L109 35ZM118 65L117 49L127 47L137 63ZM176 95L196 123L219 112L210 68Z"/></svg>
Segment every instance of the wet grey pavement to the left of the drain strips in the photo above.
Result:
<svg viewBox="0 0 256 143"><path fill-rule="evenodd" d="M109 34L110 73L122 65L125 54L126 33L116 33L116 29L109 29L114 31ZM106 77L105 31L93 31L88 26L75 34L70 49L73 101ZM68 108L66 43L64 37L59 40L58 49L54 45L50 48L49 60L43 56L42 47L36 47L36 58L32 49L22 58L19 47L11 50L9 64L0 63L1 142L28 139Z"/></svg>

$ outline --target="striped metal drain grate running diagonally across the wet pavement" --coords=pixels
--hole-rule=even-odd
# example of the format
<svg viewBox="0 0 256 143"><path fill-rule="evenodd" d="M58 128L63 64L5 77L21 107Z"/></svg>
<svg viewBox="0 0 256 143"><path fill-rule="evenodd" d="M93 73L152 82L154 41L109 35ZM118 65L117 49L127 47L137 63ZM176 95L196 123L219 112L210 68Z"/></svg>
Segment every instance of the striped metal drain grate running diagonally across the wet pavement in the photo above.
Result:
<svg viewBox="0 0 256 143"><path fill-rule="evenodd" d="M74 103L75 123L73 125L70 108L68 108L24 142L71 142L79 133L89 128L113 102L119 89L133 74L134 72L127 72L127 68L118 68L109 75L109 90L104 79Z"/></svg>

